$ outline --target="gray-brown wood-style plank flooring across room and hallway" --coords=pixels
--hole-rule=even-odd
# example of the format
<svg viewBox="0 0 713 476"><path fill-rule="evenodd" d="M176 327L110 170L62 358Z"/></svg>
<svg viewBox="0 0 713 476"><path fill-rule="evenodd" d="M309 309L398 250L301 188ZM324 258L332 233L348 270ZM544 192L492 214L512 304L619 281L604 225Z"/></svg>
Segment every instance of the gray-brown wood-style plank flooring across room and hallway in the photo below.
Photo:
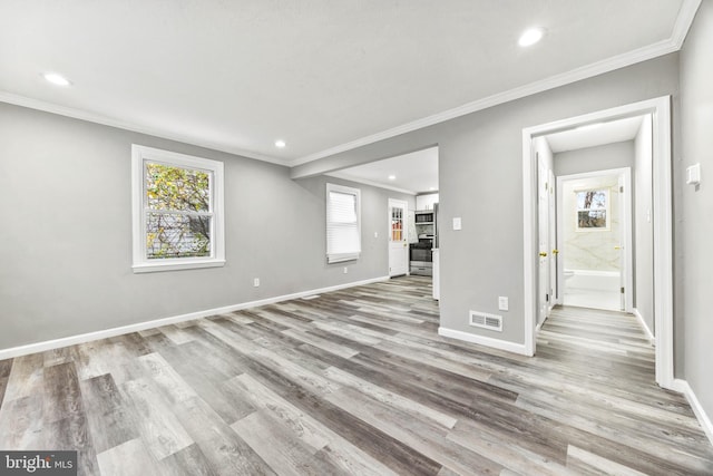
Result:
<svg viewBox="0 0 713 476"><path fill-rule="evenodd" d="M440 338L411 276L0 361L0 449L82 475L692 475L713 447L636 320L526 358Z"/></svg>

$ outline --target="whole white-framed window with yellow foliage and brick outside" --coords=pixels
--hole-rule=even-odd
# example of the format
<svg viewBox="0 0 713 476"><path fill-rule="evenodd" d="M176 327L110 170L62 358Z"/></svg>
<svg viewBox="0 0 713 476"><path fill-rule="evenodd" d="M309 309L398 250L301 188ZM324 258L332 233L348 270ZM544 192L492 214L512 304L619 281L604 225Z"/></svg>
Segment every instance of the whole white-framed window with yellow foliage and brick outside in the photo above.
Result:
<svg viewBox="0 0 713 476"><path fill-rule="evenodd" d="M223 163L131 146L134 272L225 264Z"/></svg>

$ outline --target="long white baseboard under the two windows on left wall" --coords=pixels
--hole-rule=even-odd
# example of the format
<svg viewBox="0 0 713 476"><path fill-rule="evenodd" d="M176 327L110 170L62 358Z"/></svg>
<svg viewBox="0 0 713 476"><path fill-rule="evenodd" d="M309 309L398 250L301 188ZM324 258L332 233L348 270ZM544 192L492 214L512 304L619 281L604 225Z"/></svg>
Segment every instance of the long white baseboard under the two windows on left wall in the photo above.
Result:
<svg viewBox="0 0 713 476"><path fill-rule="evenodd" d="M206 309L204 311L191 312L187 314L173 315L169 318L155 319L152 321L137 322L135 324L121 326L118 328L105 329L95 332L87 332L77 336L69 336L60 339L47 340L42 342L33 342L25 346L11 347L0 350L0 360L12 359L14 357L27 356L29 353L43 352L46 350L59 349L67 346L76 346L78 343L89 342L92 340L107 339L110 337L123 336L130 332L138 332L147 329L169 326L179 322L191 321L193 319L207 318L211 315L225 314L228 312L240 311L243 309L256 308L260 305L273 304L275 302L289 301L291 299L300 299L306 295L320 294L324 292L339 291L346 288L358 285L372 284L377 282L389 281L389 276L372 278L369 280L353 281L350 283L338 284L333 286L313 289L309 291L295 292L292 294L283 294L274 298L261 299L257 301L242 302L238 304L226 305L222 308Z"/></svg>

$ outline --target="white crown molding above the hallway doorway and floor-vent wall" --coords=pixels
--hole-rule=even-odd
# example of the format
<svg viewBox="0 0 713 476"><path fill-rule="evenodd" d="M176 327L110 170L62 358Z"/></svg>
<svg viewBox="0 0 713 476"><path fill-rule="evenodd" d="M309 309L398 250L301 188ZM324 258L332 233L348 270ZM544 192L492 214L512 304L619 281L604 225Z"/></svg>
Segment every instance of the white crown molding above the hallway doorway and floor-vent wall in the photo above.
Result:
<svg viewBox="0 0 713 476"><path fill-rule="evenodd" d="M695 13L701 6L702 0L684 0L678 10L678 16L674 23L672 35L668 39L658 41L653 45L645 46L643 48L635 49L633 51L614 56L597 62L593 62L580 68L573 69L567 72L551 76L549 78L541 79L539 81L530 82L504 93L498 93L492 96L485 97L482 99L475 100L472 103L465 104L462 106L445 110L431 116L427 116L421 119L417 119L411 123L403 124L401 126L393 127L391 129L383 130L381 133L372 134L342 145L338 145L322 152L300 157L290 163L291 167L303 165L320 158L330 157L342 152L352 150L364 145L373 144L379 140L384 140L391 137L395 137L401 134L410 133L421 129L423 127L433 126L436 124L445 123L450 119L455 119L468 114L484 110L489 107L498 106L511 100L521 99L527 96L531 96L538 93L544 93L549 89L566 86L572 82L580 81L583 79L592 78L594 76L603 75L605 72L614 71L616 69L625 68L627 66L635 65L637 62L646 61L657 58L660 56L668 55L674 51L678 51L685 41L685 37L691 29Z"/></svg>

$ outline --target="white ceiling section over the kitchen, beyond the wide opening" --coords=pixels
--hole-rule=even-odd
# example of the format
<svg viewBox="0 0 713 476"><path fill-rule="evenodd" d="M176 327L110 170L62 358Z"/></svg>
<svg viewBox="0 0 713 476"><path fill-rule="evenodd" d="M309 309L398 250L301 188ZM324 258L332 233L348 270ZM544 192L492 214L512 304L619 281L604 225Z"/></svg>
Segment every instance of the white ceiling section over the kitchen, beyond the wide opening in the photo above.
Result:
<svg viewBox="0 0 713 476"><path fill-rule="evenodd" d="M344 168L328 175L413 195L436 192L438 147Z"/></svg>

